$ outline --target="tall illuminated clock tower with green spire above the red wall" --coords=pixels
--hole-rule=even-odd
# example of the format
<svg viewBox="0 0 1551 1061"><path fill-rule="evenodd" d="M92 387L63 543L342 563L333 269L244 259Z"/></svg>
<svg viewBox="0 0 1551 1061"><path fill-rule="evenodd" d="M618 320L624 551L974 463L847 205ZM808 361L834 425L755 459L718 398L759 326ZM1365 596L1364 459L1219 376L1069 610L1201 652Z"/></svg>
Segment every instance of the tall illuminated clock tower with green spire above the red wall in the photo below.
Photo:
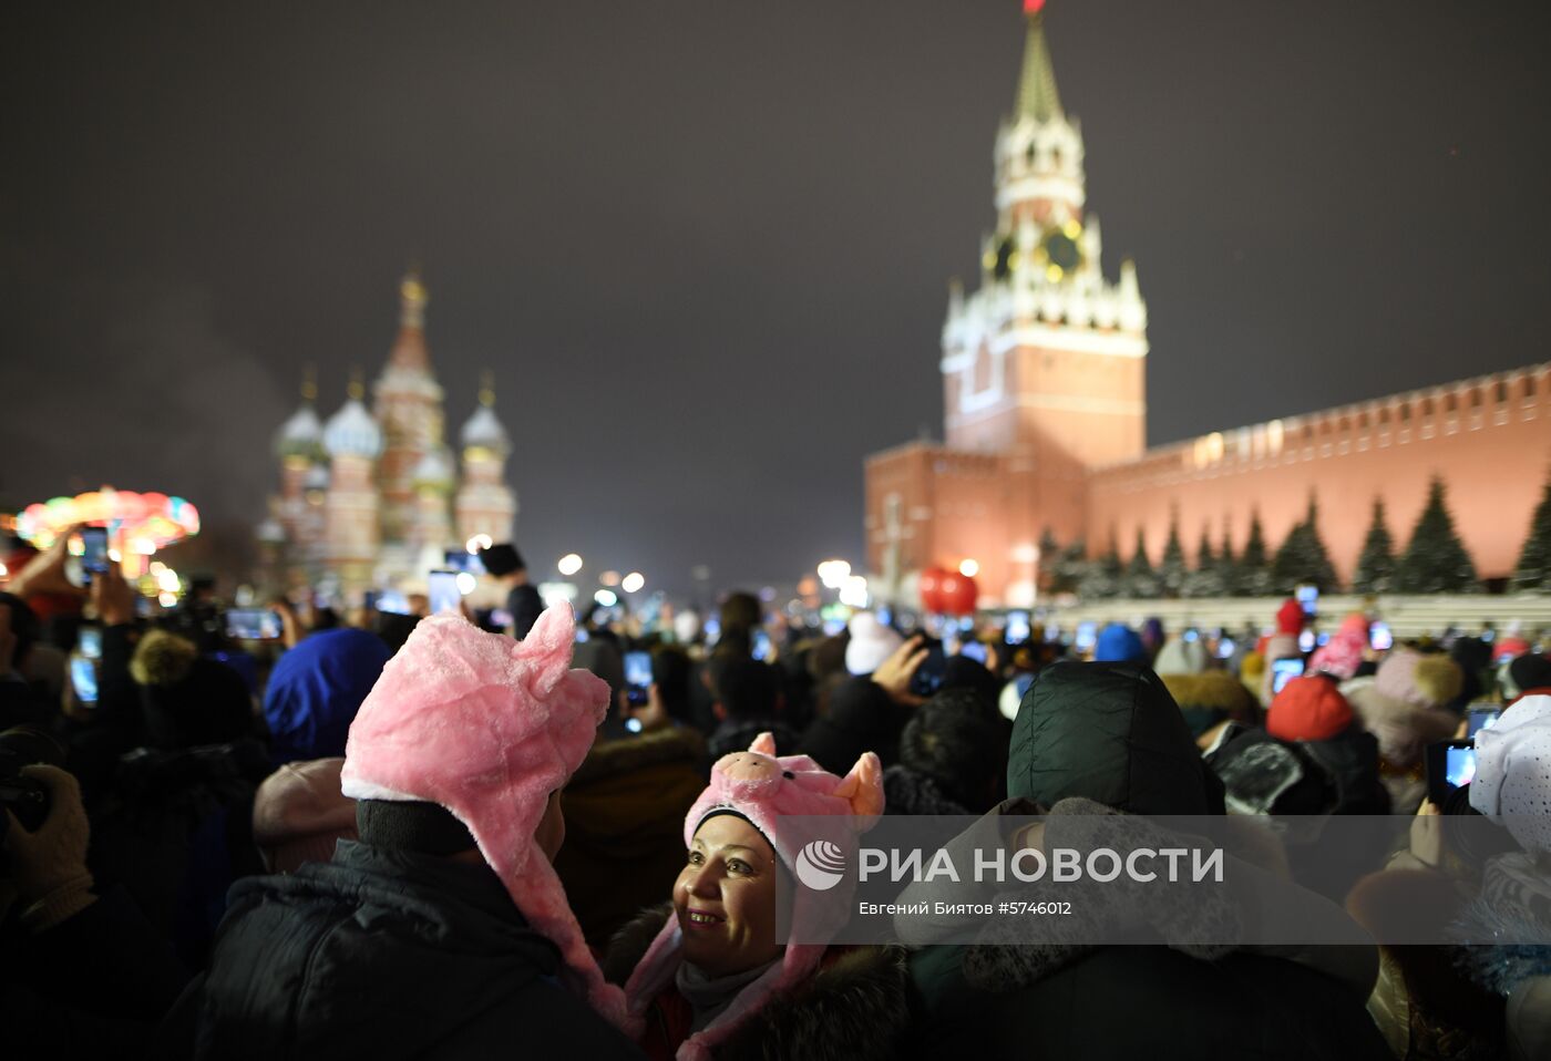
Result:
<svg viewBox="0 0 1551 1061"><path fill-rule="evenodd" d="M997 226L979 290L951 299L941 372L949 448L1016 451L1061 475L1142 454L1148 318L1129 261L1118 282L1103 275L1042 8L1025 8L1017 101L996 137Z"/></svg>

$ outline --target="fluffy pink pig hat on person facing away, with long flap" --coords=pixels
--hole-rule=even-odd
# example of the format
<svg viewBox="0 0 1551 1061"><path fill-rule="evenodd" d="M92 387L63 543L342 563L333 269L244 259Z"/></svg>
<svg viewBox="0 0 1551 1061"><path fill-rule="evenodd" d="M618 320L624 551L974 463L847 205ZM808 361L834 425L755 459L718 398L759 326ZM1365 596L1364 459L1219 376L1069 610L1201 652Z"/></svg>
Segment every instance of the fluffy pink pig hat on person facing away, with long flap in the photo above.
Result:
<svg viewBox="0 0 1551 1061"><path fill-rule="evenodd" d="M574 639L566 605L520 642L461 616L422 619L355 715L340 779L354 799L451 811L529 926L560 948L569 985L630 1033L624 994L603 980L534 839L549 793L582 763L608 710L608 684L571 669Z"/></svg>

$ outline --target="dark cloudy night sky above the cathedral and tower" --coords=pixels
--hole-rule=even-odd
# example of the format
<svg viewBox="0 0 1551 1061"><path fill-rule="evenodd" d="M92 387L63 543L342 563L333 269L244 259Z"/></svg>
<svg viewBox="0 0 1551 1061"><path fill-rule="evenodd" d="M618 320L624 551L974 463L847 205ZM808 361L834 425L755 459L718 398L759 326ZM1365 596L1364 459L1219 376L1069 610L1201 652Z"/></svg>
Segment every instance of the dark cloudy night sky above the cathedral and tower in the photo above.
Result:
<svg viewBox="0 0 1551 1061"><path fill-rule="evenodd" d="M1050 0L1152 442L1548 357L1543 6ZM417 261L535 568L858 560L1022 42L1016 0L12 5L0 496L261 517L301 366L324 413L375 375Z"/></svg>

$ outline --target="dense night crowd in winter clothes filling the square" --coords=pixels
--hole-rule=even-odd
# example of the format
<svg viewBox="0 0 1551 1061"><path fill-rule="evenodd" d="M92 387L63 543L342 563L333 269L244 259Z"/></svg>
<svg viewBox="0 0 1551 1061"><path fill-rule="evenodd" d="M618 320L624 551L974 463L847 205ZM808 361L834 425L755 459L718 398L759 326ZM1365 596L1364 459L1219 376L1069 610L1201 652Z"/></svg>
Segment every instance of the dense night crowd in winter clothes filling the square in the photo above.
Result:
<svg viewBox="0 0 1551 1061"><path fill-rule="evenodd" d="M209 586L144 617L112 566L79 585L67 538L0 594L17 1056L1551 1056L1528 639L1315 634L1300 600L1264 631L1081 644L825 630L746 593L642 624L544 610L506 544L496 614L276 600L281 636L247 642ZM1442 776L1450 746L1473 776ZM1123 943L1052 920L841 945L788 887L791 822L844 847L881 814L1010 850L1117 814L1410 825L1334 897L1284 833L1235 852L1258 898L1210 915L1275 906L1320 943L1185 938L1117 889ZM1418 906L1452 943L1374 942Z"/></svg>

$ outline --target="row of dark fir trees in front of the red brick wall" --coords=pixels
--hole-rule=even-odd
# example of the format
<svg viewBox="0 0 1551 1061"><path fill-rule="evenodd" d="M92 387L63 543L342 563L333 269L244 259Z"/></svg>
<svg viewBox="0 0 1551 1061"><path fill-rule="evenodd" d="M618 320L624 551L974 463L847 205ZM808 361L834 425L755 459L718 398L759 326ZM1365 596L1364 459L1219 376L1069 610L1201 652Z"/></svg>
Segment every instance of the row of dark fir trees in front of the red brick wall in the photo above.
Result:
<svg viewBox="0 0 1551 1061"><path fill-rule="evenodd" d="M1242 551L1235 551L1224 532L1214 546L1207 530L1196 544L1194 563L1185 555L1179 524L1169 526L1168 543L1157 565L1148 557L1140 527L1129 560L1111 537L1109 548L1089 557L1083 541L1061 546L1047 530L1041 557L1055 557L1041 572L1047 593L1075 593L1084 599L1103 597L1264 597L1292 593L1312 585L1321 593L1342 589L1325 541L1320 540L1318 506L1309 498L1303 520L1287 532L1272 552L1261 530L1259 513L1250 517L1250 534ZM1383 501L1373 503L1373 523L1363 540L1362 555L1351 582L1352 593L1478 593L1475 563L1455 530L1441 479L1433 479L1427 504L1411 529L1404 551L1396 552L1394 537L1385 520ZM1551 482L1535 509L1529 540L1525 543L1511 589L1551 593Z"/></svg>

